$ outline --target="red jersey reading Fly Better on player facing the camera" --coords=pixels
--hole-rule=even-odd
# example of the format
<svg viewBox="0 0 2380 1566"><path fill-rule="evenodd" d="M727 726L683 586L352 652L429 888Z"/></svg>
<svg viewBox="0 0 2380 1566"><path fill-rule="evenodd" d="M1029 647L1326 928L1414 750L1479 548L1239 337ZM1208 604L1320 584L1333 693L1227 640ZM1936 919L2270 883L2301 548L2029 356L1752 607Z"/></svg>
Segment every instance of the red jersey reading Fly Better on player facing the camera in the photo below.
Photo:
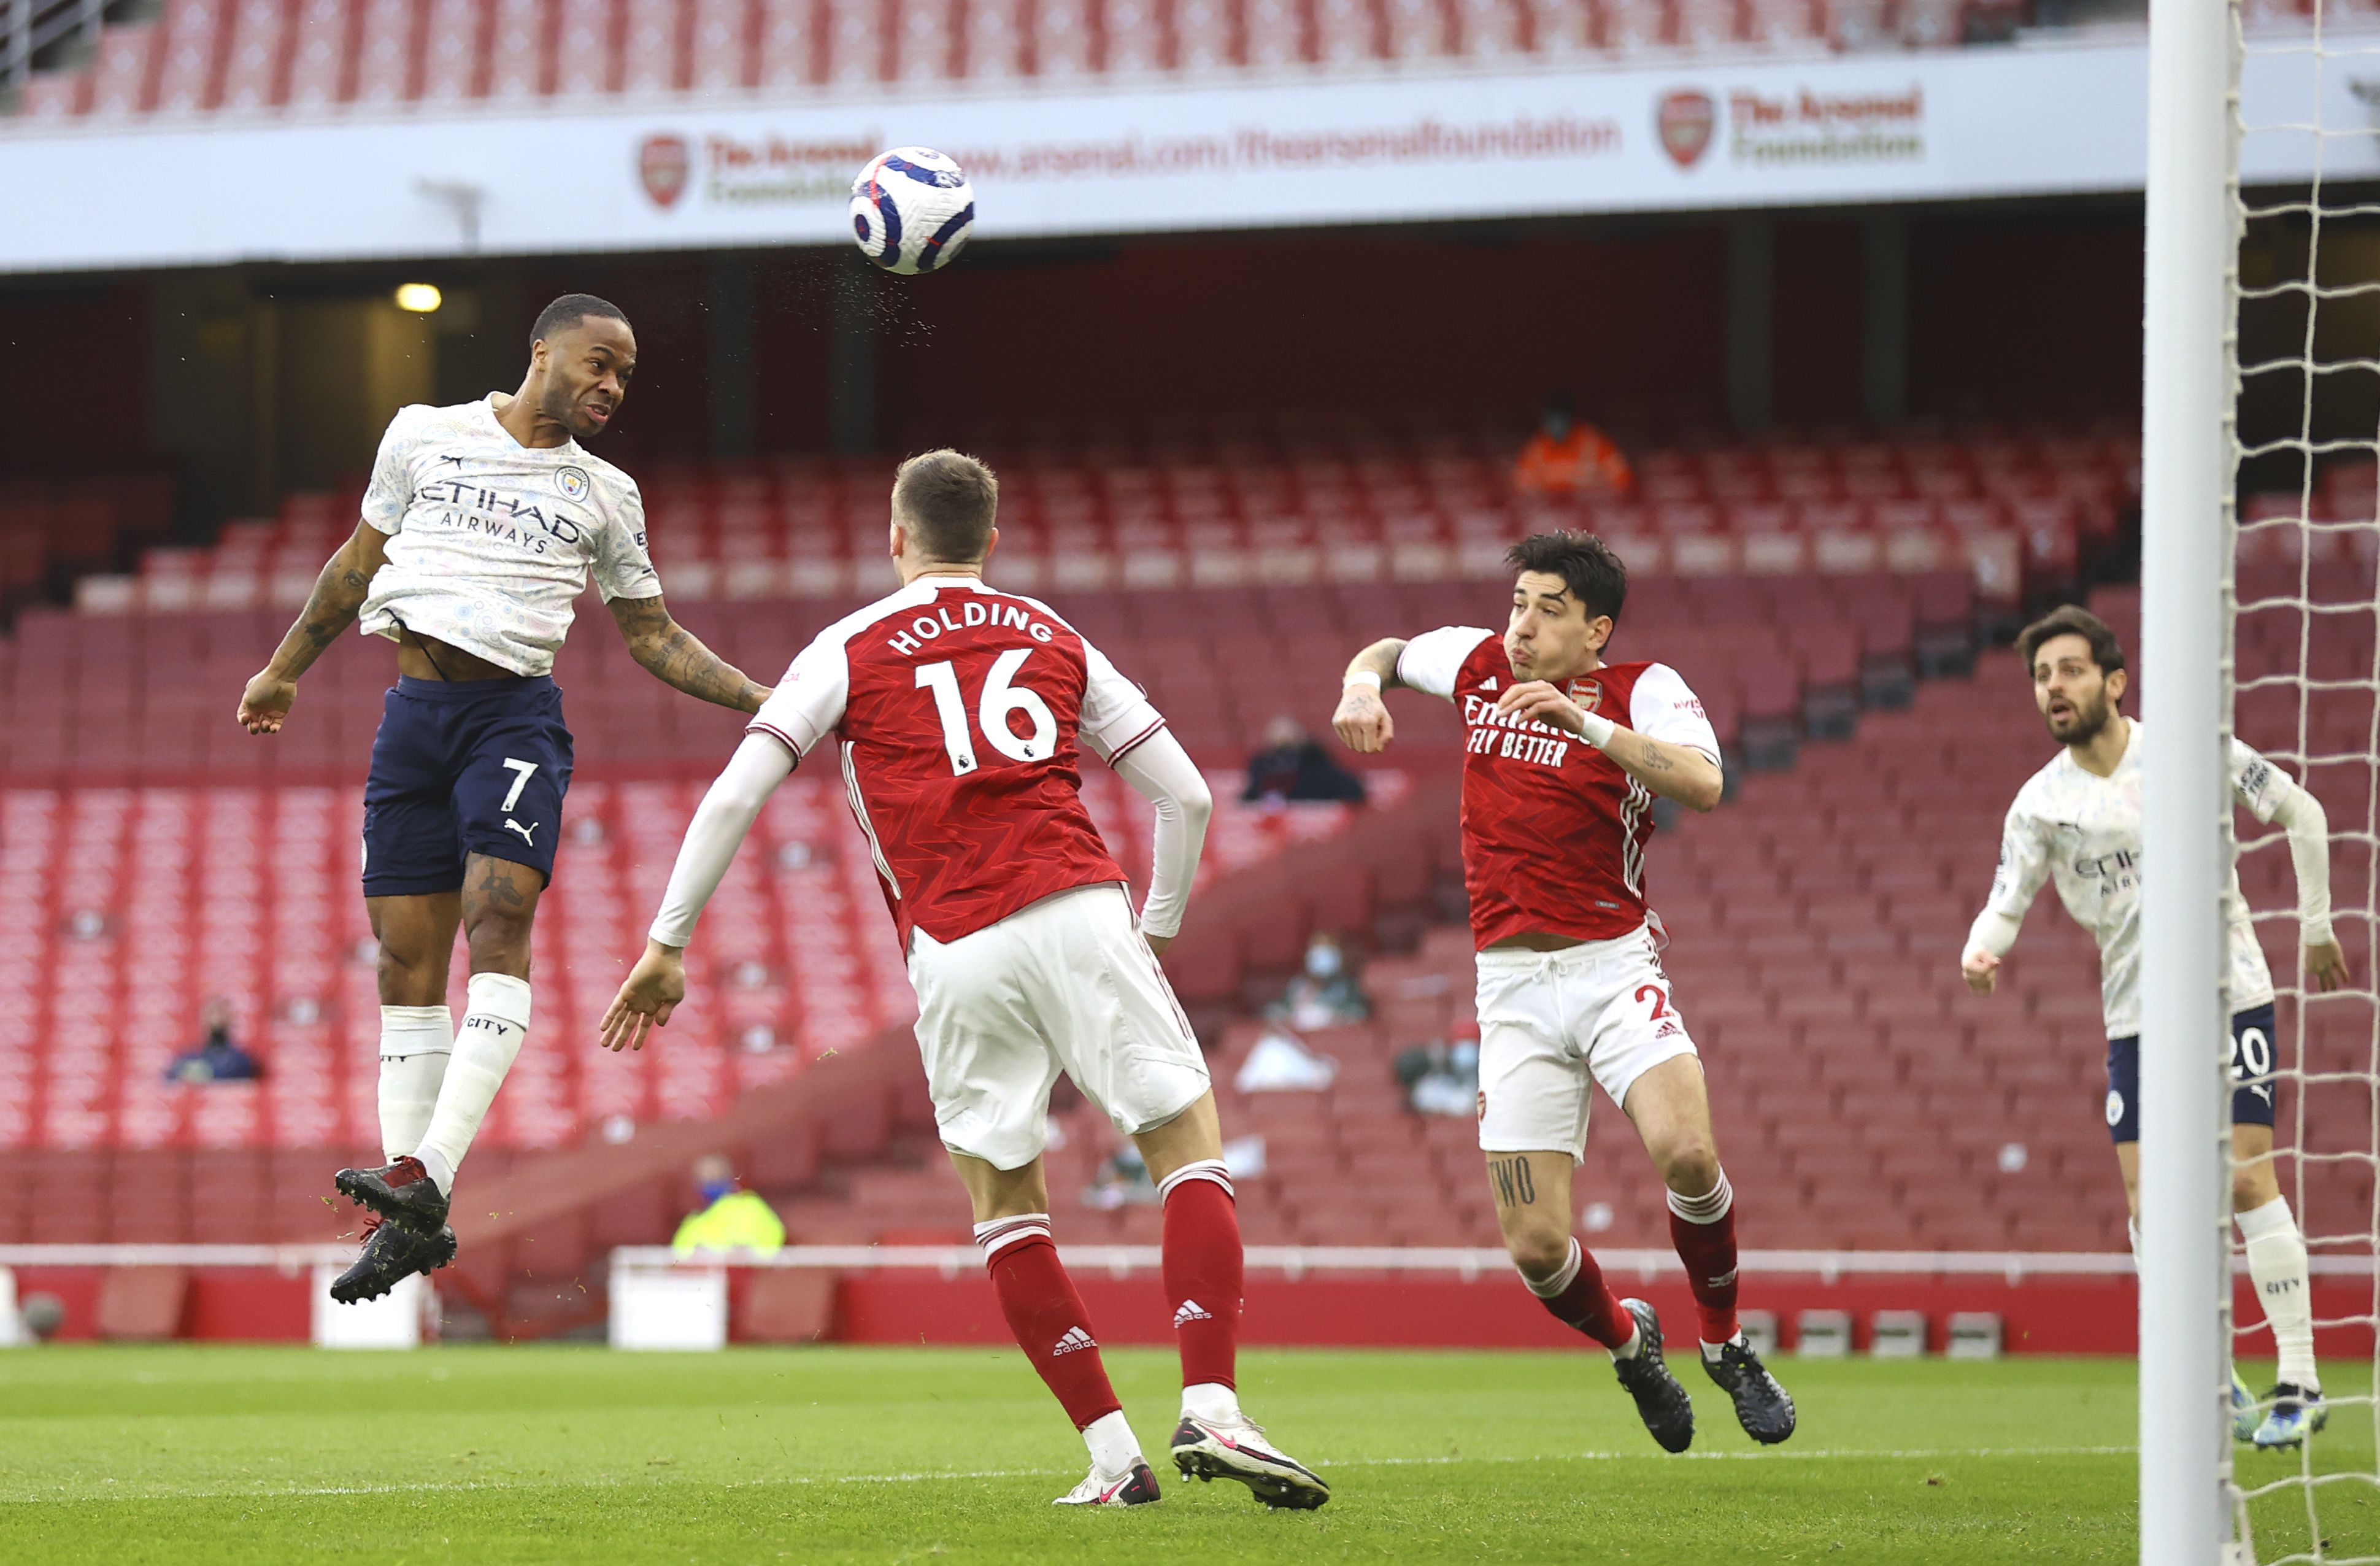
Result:
<svg viewBox="0 0 2380 1566"><path fill-rule="evenodd" d="M1576 733L1504 716L1504 638L1476 626L1404 645L1397 678L1464 712L1464 885L1485 950L1545 931L1611 940L1645 923L1652 793ZM1573 702L1654 740L1718 762L1702 702L1668 664L1604 664L1568 685Z"/></svg>

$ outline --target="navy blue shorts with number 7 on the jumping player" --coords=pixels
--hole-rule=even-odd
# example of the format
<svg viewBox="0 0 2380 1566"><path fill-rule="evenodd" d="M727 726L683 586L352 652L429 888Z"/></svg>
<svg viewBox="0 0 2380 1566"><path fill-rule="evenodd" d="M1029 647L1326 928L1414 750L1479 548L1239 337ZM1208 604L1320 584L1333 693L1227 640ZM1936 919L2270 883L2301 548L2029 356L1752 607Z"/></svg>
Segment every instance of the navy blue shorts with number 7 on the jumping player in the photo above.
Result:
<svg viewBox="0 0 2380 1566"><path fill-rule="evenodd" d="M466 854L555 878L571 731L550 676L400 678L364 781L364 895L462 888Z"/></svg>

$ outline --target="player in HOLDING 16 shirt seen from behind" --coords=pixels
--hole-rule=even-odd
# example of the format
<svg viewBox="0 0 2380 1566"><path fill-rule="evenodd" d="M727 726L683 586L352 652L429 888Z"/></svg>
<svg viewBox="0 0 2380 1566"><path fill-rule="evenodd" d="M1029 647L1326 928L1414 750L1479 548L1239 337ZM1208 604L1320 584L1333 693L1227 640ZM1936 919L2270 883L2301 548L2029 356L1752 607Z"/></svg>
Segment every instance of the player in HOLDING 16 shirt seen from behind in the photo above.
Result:
<svg viewBox="0 0 2380 1566"><path fill-rule="evenodd" d="M1140 1145L1164 1199L1164 1288L1183 1359L1173 1464L1271 1507L1330 1490L1233 1392L1240 1219L1197 1038L1157 957L1180 928L1211 800L1140 688L1031 597L983 583L1000 486L959 452L892 483L902 588L828 626L695 812L652 940L605 1014L640 1047L685 997L685 942L762 804L819 745L840 754L916 985L933 1116L976 1207L1016 1345L1090 1447L1069 1507L1138 1507L1157 1478L1107 1383L1050 1238L1042 1140L1064 1071ZM1081 800L1088 745L1157 804L1157 869L1133 919Z"/></svg>

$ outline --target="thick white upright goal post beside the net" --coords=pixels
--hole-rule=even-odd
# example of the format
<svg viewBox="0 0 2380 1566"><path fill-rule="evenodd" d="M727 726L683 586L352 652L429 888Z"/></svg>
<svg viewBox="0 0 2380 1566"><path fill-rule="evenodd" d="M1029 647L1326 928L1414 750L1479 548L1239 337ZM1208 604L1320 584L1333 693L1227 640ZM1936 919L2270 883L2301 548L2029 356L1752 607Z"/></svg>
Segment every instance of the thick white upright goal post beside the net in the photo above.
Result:
<svg viewBox="0 0 2380 1566"><path fill-rule="evenodd" d="M2232 7L2149 0L2142 352L2140 1559L2237 1559L2230 1150Z"/></svg>

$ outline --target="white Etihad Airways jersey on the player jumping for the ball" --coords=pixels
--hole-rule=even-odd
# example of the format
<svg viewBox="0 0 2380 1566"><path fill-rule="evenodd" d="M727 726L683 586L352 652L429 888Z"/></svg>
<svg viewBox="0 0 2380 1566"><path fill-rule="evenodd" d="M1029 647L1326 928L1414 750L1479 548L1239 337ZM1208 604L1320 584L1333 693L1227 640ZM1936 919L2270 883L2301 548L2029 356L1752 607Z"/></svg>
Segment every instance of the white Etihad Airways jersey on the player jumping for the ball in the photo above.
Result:
<svg viewBox="0 0 2380 1566"><path fill-rule="evenodd" d="M397 626L514 674L547 674L588 574L605 602L657 597L635 481L576 440L526 447L493 400L402 407L364 490L388 533L362 631Z"/></svg>

